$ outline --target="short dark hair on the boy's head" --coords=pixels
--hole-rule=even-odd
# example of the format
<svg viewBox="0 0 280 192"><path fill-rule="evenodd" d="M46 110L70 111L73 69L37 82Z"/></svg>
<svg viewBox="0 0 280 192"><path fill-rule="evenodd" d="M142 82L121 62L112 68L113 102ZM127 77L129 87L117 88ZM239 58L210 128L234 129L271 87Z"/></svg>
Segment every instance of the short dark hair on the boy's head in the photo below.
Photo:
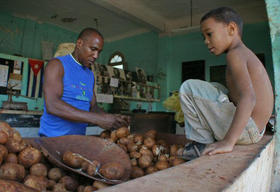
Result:
<svg viewBox="0 0 280 192"><path fill-rule="evenodd" d="M240 37L242 37L243 20L240 15L233 9L229 7L219 7L217 9L213 9L201 18L200 24L208 18L213 18L216 21L220 21L225 24L229 24L230 22L236 23L236 25L238 26L239 35Z"/></svg>

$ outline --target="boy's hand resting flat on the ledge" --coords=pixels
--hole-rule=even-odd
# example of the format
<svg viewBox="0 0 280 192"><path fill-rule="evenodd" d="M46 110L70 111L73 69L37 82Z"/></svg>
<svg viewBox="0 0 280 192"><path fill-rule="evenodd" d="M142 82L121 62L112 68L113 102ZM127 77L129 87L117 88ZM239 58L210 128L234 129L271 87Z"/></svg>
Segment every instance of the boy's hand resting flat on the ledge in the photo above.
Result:
<svg viewBox="0 0 280 192"><path fill-rule="evenodd" d="M215 155L219 153L229 153L232 152L234 145L222 140L208 145L202 155Z"/></svg>

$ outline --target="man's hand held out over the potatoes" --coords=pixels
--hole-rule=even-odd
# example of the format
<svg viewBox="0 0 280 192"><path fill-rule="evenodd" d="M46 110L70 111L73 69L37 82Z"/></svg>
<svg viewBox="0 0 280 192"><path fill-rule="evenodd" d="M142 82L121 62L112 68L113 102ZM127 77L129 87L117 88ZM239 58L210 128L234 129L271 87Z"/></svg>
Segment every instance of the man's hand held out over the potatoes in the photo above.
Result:
<svg viewBox="0 0 280 192"><path fill-rule="evenodd" d="M100 120L98 125L104 129L118 129L120 127L127 127L129 122L122 115L113 115L113 114L100 114Z"/></svg>

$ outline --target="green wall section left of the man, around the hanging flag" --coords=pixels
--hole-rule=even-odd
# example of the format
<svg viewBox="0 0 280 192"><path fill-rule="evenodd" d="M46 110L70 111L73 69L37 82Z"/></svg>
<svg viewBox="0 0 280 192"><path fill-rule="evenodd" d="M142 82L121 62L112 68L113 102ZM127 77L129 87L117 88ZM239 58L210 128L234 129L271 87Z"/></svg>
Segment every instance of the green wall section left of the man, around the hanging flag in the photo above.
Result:
<svg viewBox="0 0 280 192"><path fill-rule="evenodd" d="M23 85L21 93L27 88L27 58L42 59L41 41L53 43L53 52L62 42L74 42L77 33L59 28L47 23L38 23L30 19L14 17L9 13L0 13L0 54L1 58L22 60L24 62ZM6 55L9 54L9 55ZM22 55L15 57L11 55ZM7 95L0 95L0 106L2 101L7 100ZM43 100L13 97L14 101L27 102L29 110L42 110Z"/></svg>

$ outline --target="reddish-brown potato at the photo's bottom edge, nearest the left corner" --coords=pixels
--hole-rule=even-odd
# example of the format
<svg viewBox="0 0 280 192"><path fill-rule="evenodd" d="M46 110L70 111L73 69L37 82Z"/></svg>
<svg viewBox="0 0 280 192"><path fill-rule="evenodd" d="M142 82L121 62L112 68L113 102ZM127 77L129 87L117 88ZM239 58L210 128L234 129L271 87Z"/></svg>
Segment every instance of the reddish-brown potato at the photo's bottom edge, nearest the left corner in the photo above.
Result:
<svg viewBox="0 0 280 192"><path fill-rule="evenodd" d="M24 185L39 191L47 190L48 179L43 176L28 175L24 180Z"/></svg>

